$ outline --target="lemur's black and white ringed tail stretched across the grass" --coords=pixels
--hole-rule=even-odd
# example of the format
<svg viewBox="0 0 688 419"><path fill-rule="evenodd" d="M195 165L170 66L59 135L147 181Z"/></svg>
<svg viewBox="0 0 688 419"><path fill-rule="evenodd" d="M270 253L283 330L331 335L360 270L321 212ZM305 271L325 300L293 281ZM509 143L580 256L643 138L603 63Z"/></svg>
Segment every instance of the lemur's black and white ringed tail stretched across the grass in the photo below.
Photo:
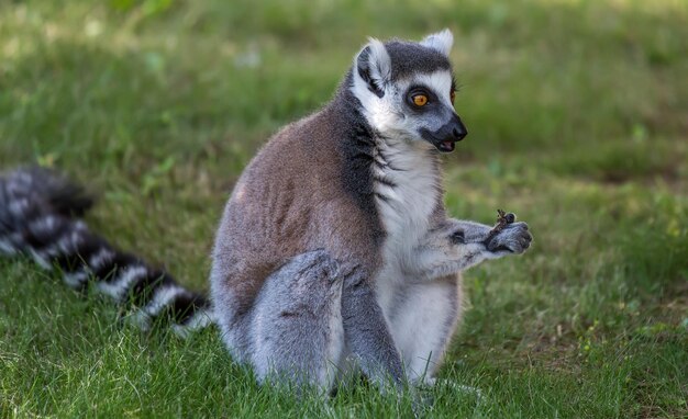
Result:
<svg viewBox="0 0 688 419"><path fill-rule="evenodd" d="M158 318L187 336L213 322L210 302L167 272L112 247L79 219L92 206L79 185L47 169L0 177L0 256L25 253L43 269L59 269L65 283L95 288L130 308L127 318L148 329Z"/></svg>

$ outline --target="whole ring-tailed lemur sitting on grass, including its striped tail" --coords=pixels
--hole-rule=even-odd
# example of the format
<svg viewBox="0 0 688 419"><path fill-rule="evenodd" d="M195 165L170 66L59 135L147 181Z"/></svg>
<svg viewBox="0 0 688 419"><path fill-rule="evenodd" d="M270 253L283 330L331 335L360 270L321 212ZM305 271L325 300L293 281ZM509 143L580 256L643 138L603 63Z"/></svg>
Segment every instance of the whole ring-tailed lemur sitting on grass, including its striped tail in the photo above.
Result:
<svg viewBox="0 0 688 419"><path fill-rule="evenodd" d="M27 252L65 281L171 315L181 335L217 322L260 381L331 388L343 372L432 382L462 313L460 272L522 253L524 223L448 218L439 154L466 128L453 107L450 31L370 39L333 100L276 134L244 170L212 254L211 296L90 233L81 190L45 170L0 179L0 251Z"/></svg>

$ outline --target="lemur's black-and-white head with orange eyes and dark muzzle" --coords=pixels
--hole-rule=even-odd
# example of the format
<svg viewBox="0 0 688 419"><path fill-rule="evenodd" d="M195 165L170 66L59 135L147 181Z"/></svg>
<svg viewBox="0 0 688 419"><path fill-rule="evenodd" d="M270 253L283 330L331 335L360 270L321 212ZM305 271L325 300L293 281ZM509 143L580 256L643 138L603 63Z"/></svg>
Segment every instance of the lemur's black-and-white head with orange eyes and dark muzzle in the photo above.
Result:
<svg viewBox="0 0 688 419"><path fill-rule="evenodd" d="M466 136L454 112L453 43L448 30L420 43L370 38L356 55L351 89L380 135L443 152L453 151Z"/></svg>

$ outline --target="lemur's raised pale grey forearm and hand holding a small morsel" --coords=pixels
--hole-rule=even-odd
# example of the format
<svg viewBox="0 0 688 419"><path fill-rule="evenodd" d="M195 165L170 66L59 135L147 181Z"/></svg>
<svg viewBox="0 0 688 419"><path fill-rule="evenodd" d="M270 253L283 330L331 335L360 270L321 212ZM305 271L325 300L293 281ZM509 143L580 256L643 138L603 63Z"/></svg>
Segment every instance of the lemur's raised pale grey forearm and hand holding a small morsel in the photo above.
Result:
<svg viewBox="0 0 688 419"><path fill-rule="evenodd" d="M523 253L532 236L525 223L512 223L497 234L492 227L448 218L428 231L407 269L419 280L432 281L474 267L484 260Z"/></svg>

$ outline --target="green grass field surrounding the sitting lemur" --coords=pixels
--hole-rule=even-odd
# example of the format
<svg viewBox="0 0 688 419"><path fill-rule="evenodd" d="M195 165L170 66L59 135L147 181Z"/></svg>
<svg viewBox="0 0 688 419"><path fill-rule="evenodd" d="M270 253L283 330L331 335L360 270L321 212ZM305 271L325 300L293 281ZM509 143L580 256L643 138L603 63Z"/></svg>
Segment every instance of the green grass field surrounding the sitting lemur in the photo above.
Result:
<svg viewBox="0 0 688 419"><path fill-rule="evenodd" d="M465 276L432 417L688 416L688 2L0 2L0 168L88 184L89 224L207 288L242 168L326 102L366 36L450 27L470 135L451 213L531 225ZM0 417L410 417L362 385L258 387L208 330L181 341L26 260L0 260Z"/></svg>

